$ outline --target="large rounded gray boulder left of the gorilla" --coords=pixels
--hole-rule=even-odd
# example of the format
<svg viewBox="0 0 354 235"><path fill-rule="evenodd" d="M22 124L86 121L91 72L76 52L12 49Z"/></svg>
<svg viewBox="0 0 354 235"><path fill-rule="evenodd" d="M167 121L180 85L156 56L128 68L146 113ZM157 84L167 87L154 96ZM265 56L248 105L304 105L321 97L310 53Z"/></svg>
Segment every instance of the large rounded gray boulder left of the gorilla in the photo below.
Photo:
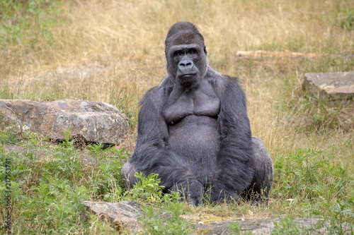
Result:
<svg viewBox="0 0 354 235"><path fill-rule="evenodd" d="M71 128L73 138L115 144L129 129L127 116L105 102L0 100L0 113L52 140L64 139Z"/></svg>

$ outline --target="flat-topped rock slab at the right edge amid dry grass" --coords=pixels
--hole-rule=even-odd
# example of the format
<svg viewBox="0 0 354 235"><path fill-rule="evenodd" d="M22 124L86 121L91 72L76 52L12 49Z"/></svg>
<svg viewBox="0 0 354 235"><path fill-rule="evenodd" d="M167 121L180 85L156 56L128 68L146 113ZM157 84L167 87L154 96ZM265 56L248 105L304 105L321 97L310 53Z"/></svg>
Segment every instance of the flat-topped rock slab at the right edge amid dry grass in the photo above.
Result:
<svg viewBox="0 0 354 235"><path fill-rule="evenodd" d="M354 99L354 71L338 73L305 73L304 89L322 101Z"/></svg>

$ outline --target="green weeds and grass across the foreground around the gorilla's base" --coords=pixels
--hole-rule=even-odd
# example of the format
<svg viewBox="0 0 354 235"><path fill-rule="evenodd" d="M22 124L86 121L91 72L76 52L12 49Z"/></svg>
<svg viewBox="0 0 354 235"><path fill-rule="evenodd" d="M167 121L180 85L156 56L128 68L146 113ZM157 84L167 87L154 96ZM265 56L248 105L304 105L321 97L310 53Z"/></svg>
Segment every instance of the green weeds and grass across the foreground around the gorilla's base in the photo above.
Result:
<svg viewBox="0 0 354 235"><path fill-rule="evenodd" d="M53 145L30 133L18 136L11 131L1 131L0 176L4 179L6 160L10 160L12 219L16 233L95 234L93 228L94 231L113 232L108 224L101 224L96 217L81 216L83 200L136 200L142 203L145 212L141 219L142 233L147 234L190 234L193 223L180 217L182 214L188 217L193 217L194 213L241 216L249 210L255 213L265 210L270 217L322 218L331 222L329 231L343 234L349 229L353 232L353 174L347 167L326 159L321 152L299 149L278 157L274 162L274 185L268 206L205 202L202 207L190 208L185 203L178 203L178 194L162 195L156 175L137 175L142 181L127 191L120 172L122 162L127 158L124 150L115 147L103 150L102 145L76 150L74 140L69 138L68 132L66 135L63 143ZM14 138L23 150L5 151L5 144L13 143ZM95 157L96 164L84 164L82 152ZM6 194L4 184L0 193ZM6 205L5 198L1 200ZM1 210L1 216L5 213L6 210ZM277 224L275 231L279 234L299 230L296 224L289 223L291 221L285 219ZM348 227L343 227L343 223ZM4 222L0 226L4 229ZM231 231L237 231L235 226L230 225Z"/></svg>

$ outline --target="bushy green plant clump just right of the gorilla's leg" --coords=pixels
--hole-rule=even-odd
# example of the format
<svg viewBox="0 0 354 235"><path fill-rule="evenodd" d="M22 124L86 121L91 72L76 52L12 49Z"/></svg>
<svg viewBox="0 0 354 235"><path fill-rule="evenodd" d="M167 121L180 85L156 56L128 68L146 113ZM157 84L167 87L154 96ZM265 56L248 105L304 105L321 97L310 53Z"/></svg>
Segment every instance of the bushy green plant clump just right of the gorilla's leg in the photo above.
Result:
<svg viewBox="0 0 354 235"><path fill-rule="evenodd" d="M341 198L353 187L340 164L321 159L315 150L298 150L274 162L273 193L280 198Z"/></svg>

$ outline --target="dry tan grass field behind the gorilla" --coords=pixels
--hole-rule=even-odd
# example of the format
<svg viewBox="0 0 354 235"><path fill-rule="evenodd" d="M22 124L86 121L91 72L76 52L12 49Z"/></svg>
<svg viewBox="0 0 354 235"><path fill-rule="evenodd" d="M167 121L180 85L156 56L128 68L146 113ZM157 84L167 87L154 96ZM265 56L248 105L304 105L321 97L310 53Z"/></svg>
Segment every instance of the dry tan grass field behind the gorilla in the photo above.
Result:
<svg viewBox="0 0 354 235"><path fill-rule="evenodd" d="M63 8L64 23L51 29L54 46L45 41L35 50L25 44L8 45L3 52L1 89L8 86L3 98L109 102L126 114L132 112L136 124L137 102L166 74L166 32L176 21L188 20L205 37L210 65L243 81L253 135L264 140L273 159L298 148L313 148L354 170L353 128L306 131L301 106L293 110L294 102L288 102L301 99L304 73L347 70L353 65L321 62L321 55L353 54L354 30L341 28L338 14L354 8L353 1L76 0L64 1ZM319 57L236 55L246 50ZM283 106L288 112L282 111ZM135 131L129 140L126 145L132 151ZM271 205L281 207L276 202ZM262 217L264 210L255 210Z"/></svg>

